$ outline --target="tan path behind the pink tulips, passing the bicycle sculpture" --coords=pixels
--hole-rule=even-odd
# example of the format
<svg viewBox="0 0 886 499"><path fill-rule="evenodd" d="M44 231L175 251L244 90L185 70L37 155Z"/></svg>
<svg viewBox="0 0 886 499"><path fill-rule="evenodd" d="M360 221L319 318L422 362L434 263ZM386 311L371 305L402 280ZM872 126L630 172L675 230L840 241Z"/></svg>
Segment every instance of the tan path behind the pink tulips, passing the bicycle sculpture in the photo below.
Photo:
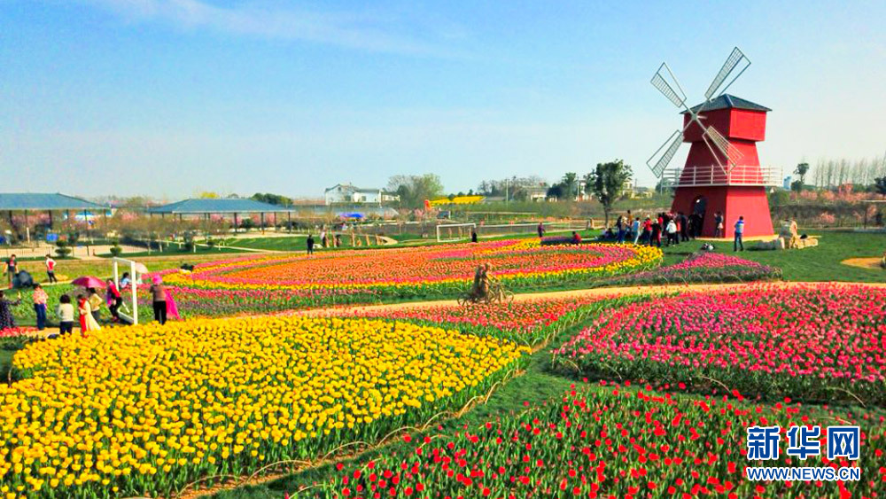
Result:
<svg viewBox="0 0 886 499"><path fill-rule="evenodd" d="M820 282L785 282L779 281L774 283L766 283L765 285L775 286L779 288L795 288L802 287L804 285L832 285L834 287L840 286L848 286L848 285L871 285L877 287L886 287L886 283L820 283ZM669 294L675 292L708 292L708 291L722 291L729 290L734 288L740 288L742 286L748 286L753 284L745 284L745 283L730 283L730 284L700 284L700 285L639 285L639 286L620 286L620 287L606 287L606 288L594 288L594 289L579 289L579 290L570 290L570 291L555 291L555 292L528 292L523 294L514 295L514 301L532 301L532 300L544 300L544 299L581 299L581 298L590 298L595 296L627 296L627 295L637 295L637 294L647 294L647 295L660 295L660 294ZM759 284L758 284L759 285ZM402 310L402 309L415 309L415 308L433 308L433 307L446 307L446 306L455 306L458 305L458 301L456 300L435 300L435 301L407 301L403 303L389 303L382 305L356 305L352 307L336 307L336 308L314 308L310 310L298 310L293 312L294 314L299 314L303 316L329 316L329 315L340 315L342 313L349 312L381 312L385 310Z"/></svg>

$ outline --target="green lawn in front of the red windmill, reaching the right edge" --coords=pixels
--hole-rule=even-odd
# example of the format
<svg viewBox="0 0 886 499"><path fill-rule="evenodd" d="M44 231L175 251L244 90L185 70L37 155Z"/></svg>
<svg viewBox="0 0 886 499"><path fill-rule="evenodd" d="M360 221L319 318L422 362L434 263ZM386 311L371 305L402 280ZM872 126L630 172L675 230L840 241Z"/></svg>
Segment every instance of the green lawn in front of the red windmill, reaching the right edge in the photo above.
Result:
<svg viewBox="0 0 886 499"><path fill-rule="evenodd" d="M886 282L886 271L882 269L859 269L840 263L849 258L882 256L886 251L886 234L820 231L811 236L819 236L819 246L790 251L746 251L733 253L732 243L714 243L717 253L735 254L747 260L758 261L781 269L786 281L857 281L864 283ZM745 248L756 243L745 243ZM690 241L664 249L664 264L679 261L686 254L702 246L699 241Z"/></svg>

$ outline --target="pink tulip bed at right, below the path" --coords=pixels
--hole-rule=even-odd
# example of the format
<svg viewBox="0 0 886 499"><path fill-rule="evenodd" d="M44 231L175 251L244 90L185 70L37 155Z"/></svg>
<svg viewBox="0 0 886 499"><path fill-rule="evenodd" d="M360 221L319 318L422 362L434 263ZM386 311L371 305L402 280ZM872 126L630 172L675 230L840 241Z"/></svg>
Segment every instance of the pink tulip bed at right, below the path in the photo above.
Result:
<svg viewBox="0 0 886 499"><path fill-rule="evenodd" d="M557 352L589 375L883 404L886 289L749 286L636 303Z"/></svg>

